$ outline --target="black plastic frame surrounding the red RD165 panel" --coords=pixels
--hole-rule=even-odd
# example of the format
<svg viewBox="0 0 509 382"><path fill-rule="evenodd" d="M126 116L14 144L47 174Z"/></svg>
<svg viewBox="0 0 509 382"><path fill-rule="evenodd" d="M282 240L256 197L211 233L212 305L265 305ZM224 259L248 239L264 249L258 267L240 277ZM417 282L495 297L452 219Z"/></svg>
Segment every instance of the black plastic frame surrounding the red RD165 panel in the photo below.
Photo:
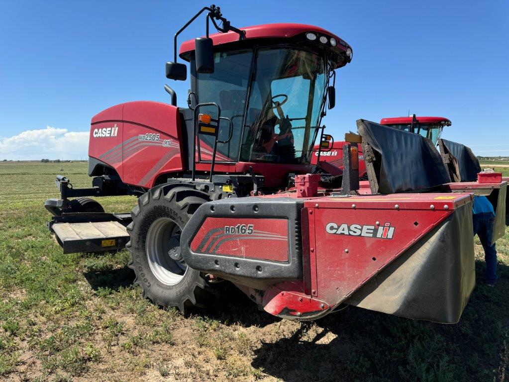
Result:
<svg viewBox="0 0 509 382"><path fill-rule="evenodd" d="M302 279L301 210L304 202L296 198L228 198L202 204L182 231L180 245L186 264L196 270L224 279L263 288L284 280ZM288 220L288 261L196 253L191 243L207 218L229 218L232 225L243 218ZM260 248L264 251L264 248ZM260 272L259 269L263 271Z"/></svg>

